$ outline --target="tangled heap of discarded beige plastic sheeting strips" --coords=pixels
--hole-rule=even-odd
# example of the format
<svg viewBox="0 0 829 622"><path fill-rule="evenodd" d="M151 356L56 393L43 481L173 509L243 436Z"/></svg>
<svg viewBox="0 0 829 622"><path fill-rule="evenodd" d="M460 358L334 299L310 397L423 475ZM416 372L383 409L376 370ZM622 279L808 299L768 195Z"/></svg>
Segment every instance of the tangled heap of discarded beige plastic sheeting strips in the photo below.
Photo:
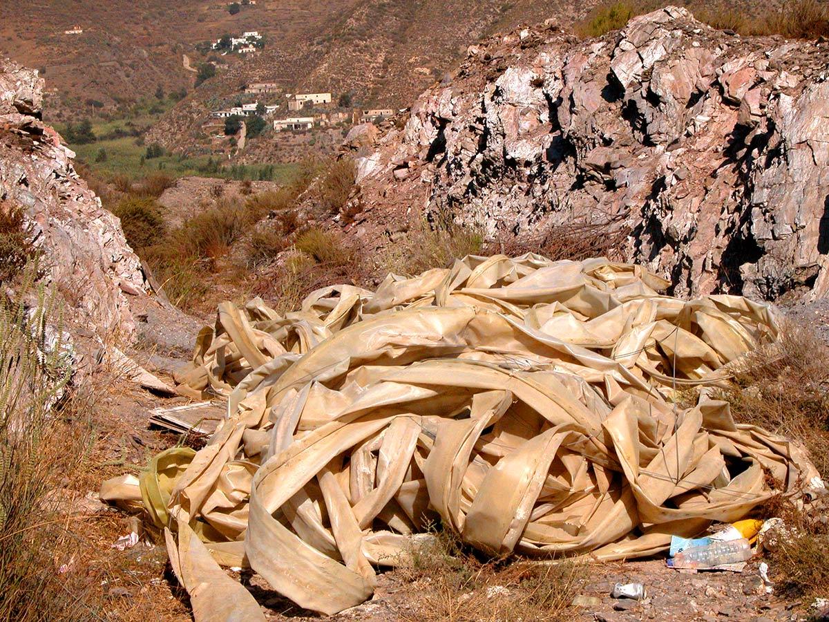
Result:
<svg viewBox="0 0 829 622"><path fill-rule="evenodd" d="M261 619L216 562L331 614L438 517L497 555L666 551L743 518L772 479L793 492L817 474L797 445L691 391L773 342L773 309L667 285L604 259L499 255L376 292L321 289L284 317L221 304L179 390L227 396L227 419L204 449L160 454L102 496L169 527L205 620Z"/></svg>

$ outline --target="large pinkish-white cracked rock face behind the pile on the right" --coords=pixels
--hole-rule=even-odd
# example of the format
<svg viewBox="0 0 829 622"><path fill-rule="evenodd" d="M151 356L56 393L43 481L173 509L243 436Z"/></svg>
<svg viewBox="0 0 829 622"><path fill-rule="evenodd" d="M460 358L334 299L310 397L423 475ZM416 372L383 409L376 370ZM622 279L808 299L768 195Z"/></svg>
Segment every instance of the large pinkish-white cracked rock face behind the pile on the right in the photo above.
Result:
<svg viewBox="0 0 829 622"><path fill-rule="evenodd" d="M588 41L497 36L362 158L356 226L376 236L401 202L493 241L613 222L675 294L822 296L827 63L827 42L730 36L676 7Z"/></svg>

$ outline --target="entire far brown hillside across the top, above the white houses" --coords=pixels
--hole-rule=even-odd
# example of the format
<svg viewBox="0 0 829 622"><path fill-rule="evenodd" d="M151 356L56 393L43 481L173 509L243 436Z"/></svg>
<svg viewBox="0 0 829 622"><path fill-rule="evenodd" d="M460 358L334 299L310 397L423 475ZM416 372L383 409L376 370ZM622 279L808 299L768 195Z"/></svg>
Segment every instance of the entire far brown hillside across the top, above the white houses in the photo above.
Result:
<svg viewBox="0 0 829 622"><path fill-rule="evenodd" d="M91 112L93 100L113 106L158 85L189 88L194 73L183 56L203 60L197 43L258 30L264 53L225 58L234 70L217 80L219 92L273 80L289 90L351 90L366 104L402 105L429 85L430 72L439 75L493 27L573 13L560 0L259 0L235 15L210 0L22 0L0 3L0 55L41 70L50 114L66 119ZM75 25L84 32L65 34ZM215 95L203 93L196 99Z"/></svg>

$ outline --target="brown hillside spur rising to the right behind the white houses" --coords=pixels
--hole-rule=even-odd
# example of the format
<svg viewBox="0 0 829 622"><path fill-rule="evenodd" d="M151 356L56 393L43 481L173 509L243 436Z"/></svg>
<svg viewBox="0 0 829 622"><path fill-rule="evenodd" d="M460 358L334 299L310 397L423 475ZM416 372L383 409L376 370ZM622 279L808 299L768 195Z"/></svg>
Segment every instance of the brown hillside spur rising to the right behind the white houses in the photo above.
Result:
<svg viewBox="0 0 829 622"><path fill-rule="evenodd" d="M289 13L290 22L279 32L264 31L264 51L243 59L222 57L228 66L168 112L149 139L177 151L192 148L192 138L211 109L240 97L250 82L275 82L288 93L331 91L335 100L348 93L356 106L400 108L493 29L550 16L570 23L593 3L341 0L342 7L331 6L313 19ZM293 29L284 29L288 23ZM275 96L269 99L279 101L284 103Z"/></svg>

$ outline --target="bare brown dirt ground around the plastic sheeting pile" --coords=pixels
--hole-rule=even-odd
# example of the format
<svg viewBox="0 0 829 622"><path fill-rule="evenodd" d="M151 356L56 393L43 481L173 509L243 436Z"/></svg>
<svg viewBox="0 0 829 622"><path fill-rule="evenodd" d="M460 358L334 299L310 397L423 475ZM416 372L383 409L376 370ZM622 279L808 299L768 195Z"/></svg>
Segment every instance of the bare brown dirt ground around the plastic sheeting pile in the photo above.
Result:
<svg viewBox="0 0 829 622"><path fill-rule="evenodd" d="M825 323L827 304L800 305L792 314L804 321ZM165 381L171 372L187 362L198 321L188 316L148 313L141 330L140 347L133 357ZM164 330L157 330L163 327ZM77 513L79 528L85 532L88 552L70 571L90 577L95 600L104 602L103 620L189 620L187 593L177 585L169 570L162 544L138 546L119 552L112 543L128 532L127 513L95 500L101 481L138 470L158 451L175 445L178 435L148 428L148 413L157 406L176 406L184 398L164 398L143 391L127 381L109 386L99 404L98 434L91 467L81 481L72 483L89 508ZM526 564L527 561L512 563ZM646 561L591 563L586 579L575 594L582 605L574 606L567 617L575 620L807 620L809 603L785 600L764 592L758 574L759 561L750 561L742 573L674 571L664 557ZM249 586L269 620L317 620L325 616L303 610L270 590L259 577L227 571ZM774 568L769 572L774 581ZM406 571L385 571L378 576L373 598L329 620L435 620L435 583L429 576L413 578ZM616 600L609 596L616 583L640 582L647 590L645 600ZM492 599L509 598L507 594ZM464 598L465 596L461 596ZM485 598L485 595L480 595ZM456 597L453 596L455 600ZM493 600L493 605L494 605ZM463 603L458 602L458 611ZM429 615L427 615L429 614ZM453 618L468 620L463 615ZM481 618L473 618L478 620ZM489 620L490 618L486 618ZM494 618L493 618L494 620ZM520 612L509 620L521 620Z"/></svg>

